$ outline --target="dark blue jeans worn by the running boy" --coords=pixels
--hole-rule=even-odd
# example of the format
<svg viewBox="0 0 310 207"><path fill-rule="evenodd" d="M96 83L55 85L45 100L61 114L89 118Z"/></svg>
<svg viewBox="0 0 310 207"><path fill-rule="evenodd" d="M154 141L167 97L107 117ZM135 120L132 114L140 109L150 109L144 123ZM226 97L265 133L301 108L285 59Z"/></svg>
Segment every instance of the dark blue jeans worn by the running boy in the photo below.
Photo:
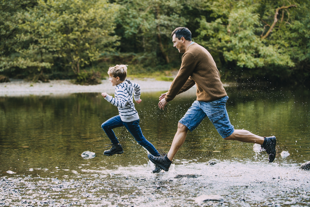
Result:
<svg viewBox="0 0 310 207"><path fill-rule="evenodd" d="M117 116L112 117L111 119L108 119L103 124L101 124L101 128L108 135L112 144L118 144L119 142L112 129L125 126L128 132L131 133L131 135L135 138L135 140L138 142L139 145L143 146L153 156L156 156L156 157L159 156L160 154L155 149L155 147L152 145L152 143L147 141L145 137L143 136L141 128L139 126L139 121L140 119L132 121L132 122L124 122L121 120L121 117L117 115Z"/></svg>

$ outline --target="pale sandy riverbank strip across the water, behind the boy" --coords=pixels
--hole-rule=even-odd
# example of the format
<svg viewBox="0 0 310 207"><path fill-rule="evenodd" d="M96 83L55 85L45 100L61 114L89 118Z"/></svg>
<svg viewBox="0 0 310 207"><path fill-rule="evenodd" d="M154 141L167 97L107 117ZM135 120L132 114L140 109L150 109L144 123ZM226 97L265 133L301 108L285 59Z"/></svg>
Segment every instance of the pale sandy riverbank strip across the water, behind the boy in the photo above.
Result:
<svg viewBox="0 0 310 207"><path fill-rule="evenodd" d="M158 81L155 79L131 79L135 83L139 83L143 92L151 91L168 91L171 81ZM11 80L8 83L0 83L0 97L16 97L16 96L46 96L46 95L68 95L71 93L90 93L90 92L114 92L114 87L110 81L102 80L98 85L77 85L70 80L51 80L49 83L33 83L24 80ZM228 86L228 84L224 84ZM195 88L196 86L194 86Z"/></svg>

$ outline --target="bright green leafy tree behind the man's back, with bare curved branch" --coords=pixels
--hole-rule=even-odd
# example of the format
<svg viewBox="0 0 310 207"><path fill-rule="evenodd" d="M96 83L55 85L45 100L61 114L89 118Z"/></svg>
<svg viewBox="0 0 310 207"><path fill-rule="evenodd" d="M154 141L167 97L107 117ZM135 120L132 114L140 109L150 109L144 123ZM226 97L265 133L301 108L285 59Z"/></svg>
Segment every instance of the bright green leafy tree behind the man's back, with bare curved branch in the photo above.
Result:
<svg viewBox="0 0 310 207"><path fill-rule="evenodd" d="M218 54L223 70L243 73L246 77L263 77L272 73L279 77L290 75L290 69L296 65L291 53L296 40L289 37L296 37L294 27L307 27L296 21L307 11L304 7L287 1L263 0L216 0L207 2L205 7L212 11L214 20L208 22L205 16L197 19L200 27L195 40ZM298 14L296 8L302 13ZM279 12L282 16L277 21ZM283 24L283 18L287 19L286 24ZM305 34L301 36L299 42L306 41ZM256 69L251 70L253 68Z"/></svg>

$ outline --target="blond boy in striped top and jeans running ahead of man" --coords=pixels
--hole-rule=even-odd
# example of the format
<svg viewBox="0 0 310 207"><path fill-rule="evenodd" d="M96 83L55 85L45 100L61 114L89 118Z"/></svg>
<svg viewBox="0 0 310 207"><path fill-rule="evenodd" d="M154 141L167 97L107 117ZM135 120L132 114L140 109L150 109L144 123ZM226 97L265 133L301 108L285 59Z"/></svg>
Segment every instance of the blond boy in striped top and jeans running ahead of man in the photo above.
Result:
<svg viewBox="0 0 310 207"><path fill-rule="evenodd" d="M122 154L124 152L122 145L118 142L112 129L125 126L141 146L153 156L158 157L160 154L155 147L145 139L139 126L140 119L138 111L135 109L135 104L133 103L133 96L136 103L141 103L140 85L138 83L131 83L129 80L125 79L127 76L126 66L128 65L116 65L110 67L108 70L109 81L112 83L112 86L115 86L115 98L105 92L101 94L105 100L109 101L114 106L117 106L119 112L119 115L108 119L101 125L102 129L112 142L112 144L109 145L112 146L111 149L104 151L104 155L111 156ZM161 169L157 166L155 167L153 173L160 172Z"/></svg>

